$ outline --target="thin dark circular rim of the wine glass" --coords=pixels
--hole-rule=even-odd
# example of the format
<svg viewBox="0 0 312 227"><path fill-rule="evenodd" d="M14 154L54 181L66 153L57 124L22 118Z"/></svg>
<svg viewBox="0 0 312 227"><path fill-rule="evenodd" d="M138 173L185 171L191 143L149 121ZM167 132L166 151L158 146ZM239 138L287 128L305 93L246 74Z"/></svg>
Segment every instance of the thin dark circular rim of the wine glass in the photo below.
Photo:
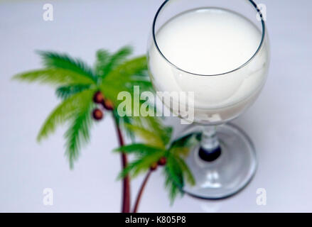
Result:
<svg viewBox="0 0 312 227"><path fill-rule="evenodd" d="M230 74L230 73L236 72L236 71L242 69L243 67L245 67L246 65L248 65L249 62L251 62L254 59L254 57L257 56L258 52L260 51L260 49L262 48L262 46L264 44L264 38L265 38L265 35L266 35L266 25L265 25L265 22L264 22L264 18L262 16L262 11L260 11L260 9L258 8L257 4L253 0L248 0L249 3L252 4L252 6L254 6L254 9L256 9L257 12L259 13L259 16L260 16L261 22L262 22L262 38L261 38L261 42L259 44L259 47L257 48L256 52L254 52L254 55L252 55L252 57L250 57L249 60L247 60L247 62L244 62L243 65L240 65L240 67L237 67L234 70L231 70L229 72L222 72L220 74L197 74L197 73L194 73L194 72L188 72L186 70L183 70L183 69L181 69L181 67L178 67L178 66L174 65L170 60L168 60L168 58L165 55L163 55L163 52L161 52L160 48L158 47L157 41L156 41L156 35L155 35L156 21L157 21L159 13L161 12L163 7L166 6L166 4L169 1L170 0L164 1L163 4L161 4L161 6L159 7L158 11L156 12L156 15L155 15L154 21L153 21L153 26L152 26L152 33L153 33L154 44L155 44L156 49L158 50L158 52L161 54L161 57L163 57L163 59L165 59L166 62L168 62L171 66L175 67L177 70L180 70L180 71L188 73L188 74L193 74L195 76L203 76L203 77L215 77L215 76L220 76L220 75L224 75L224 74Z"/></svg>

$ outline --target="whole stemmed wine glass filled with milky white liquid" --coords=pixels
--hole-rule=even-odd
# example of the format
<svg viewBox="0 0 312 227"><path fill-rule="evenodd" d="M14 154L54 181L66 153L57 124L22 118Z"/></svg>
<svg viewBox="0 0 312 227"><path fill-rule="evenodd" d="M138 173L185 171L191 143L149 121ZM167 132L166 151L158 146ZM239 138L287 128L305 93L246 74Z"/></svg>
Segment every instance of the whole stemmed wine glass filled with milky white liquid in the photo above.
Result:
<svg viewBox="0 0 312 227"><path fill-rule="evenodd" d="M251 0L168 0L154 18L148 46L149 74L157 92L193 92L193 123L183 135L200 143L185 161L195 186L183 191L203 199L240 192L252 179L257 159L236 118L259 96L269 69L264 12ZM175 103L162 100L173 114ZM183 136L181 135L181 136Z"/></svg>

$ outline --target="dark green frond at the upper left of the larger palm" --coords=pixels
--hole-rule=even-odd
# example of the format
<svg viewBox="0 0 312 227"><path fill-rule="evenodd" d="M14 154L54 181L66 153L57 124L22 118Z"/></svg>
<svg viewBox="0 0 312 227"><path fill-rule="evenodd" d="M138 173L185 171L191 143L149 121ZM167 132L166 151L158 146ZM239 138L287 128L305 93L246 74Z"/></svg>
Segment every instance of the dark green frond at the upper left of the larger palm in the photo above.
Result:
<svg viewBox="0 0 312 227"><path fill-rule="evenodd" d="M74 59L69 55L59 54L57 52L38 51L38 53L41 55L45 67L70 70L71 72L76 72L96 82L92 69L82 60Z"/></svg>

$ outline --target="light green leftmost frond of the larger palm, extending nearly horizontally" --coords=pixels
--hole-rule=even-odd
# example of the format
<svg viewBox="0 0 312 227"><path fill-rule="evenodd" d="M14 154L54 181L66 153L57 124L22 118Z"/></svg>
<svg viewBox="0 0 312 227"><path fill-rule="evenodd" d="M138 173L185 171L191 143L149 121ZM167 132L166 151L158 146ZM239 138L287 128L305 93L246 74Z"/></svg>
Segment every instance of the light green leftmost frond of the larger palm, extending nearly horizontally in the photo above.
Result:
<svg viewBox="0 0 312 227"><path fill-rule="evenodd" d="M33 70L16 74L13 79L18 79L26 82L39 82L42 84L95 84L89 77L85 77L77 72L70 70L48 68L44 70Z"/></svg>

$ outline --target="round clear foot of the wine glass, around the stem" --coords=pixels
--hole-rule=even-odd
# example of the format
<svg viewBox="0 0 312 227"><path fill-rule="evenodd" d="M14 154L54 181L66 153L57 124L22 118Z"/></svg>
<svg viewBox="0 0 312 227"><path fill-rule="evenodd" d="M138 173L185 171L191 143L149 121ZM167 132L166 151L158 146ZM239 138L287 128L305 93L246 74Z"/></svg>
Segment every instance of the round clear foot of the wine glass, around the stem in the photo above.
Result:
<svg viewBox="0 0 312 227"><path fill-rule="evenodd" d="M201 132L192 125L185 134ZM251 181L257 169L254 145L249 137L232 123L217 126L221 154L208 162L200 158L200 145L195 146L185 162L195 177L195 186L185 182L183 192L201 199L225 199L240 192Z"/></svg>

